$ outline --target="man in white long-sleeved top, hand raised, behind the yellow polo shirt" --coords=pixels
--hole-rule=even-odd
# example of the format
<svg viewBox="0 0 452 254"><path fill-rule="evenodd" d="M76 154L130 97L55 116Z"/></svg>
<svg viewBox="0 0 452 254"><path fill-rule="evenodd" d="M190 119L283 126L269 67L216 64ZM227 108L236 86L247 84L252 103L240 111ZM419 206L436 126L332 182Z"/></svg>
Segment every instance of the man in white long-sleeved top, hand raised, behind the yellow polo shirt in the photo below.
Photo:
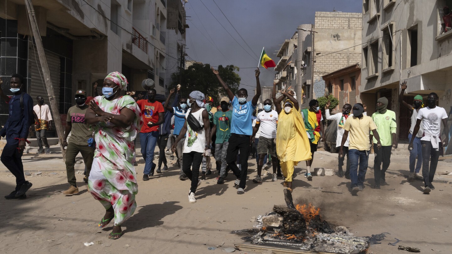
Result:
<svg viewBox="0 0 452 254"><path fill-rule="evenodd" d="M345 121L347 121L347 118L349 117L353 117L353 114L350 114L350 112L352 111L352 105L346 103L344 104L344 106L342 107L342 113L337 113L334 115L330 115L330 105L331 102L328 102L325 104L325 116L326 116L326 120L335 120L336 124L337 124L337 132L336 132L336 147L340 148L340 144L342 142L342 136L344 136L344 124ZM367 116L366 113L366 105L363 105L364 107L364 112L363 115ZM345 168L345 178L346 179L350 179L350 160L348 160L348 137L347 137L347 141L345 141L344 143L344 147L342 148L342 150L344 151L344 156L340 157L338 156L338 160L339 160L339 176L343 177L344 176L344 171L342 170L342 166L344 165L344 159L345 159L345 155L347 155L347 166Z"/></svg>

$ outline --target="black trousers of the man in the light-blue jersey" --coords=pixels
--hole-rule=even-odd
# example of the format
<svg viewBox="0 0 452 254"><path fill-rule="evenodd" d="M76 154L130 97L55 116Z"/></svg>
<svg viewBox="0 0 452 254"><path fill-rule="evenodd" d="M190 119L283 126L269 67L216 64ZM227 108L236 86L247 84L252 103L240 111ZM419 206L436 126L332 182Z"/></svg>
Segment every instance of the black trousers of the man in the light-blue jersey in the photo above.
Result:
<svg viewBox="0 0 452 254"><path fill-rule="evenodd" d="M237 167L235 160L240 151L240 165L242 170ZM226 162L232 173L240 179L240 188L245 188L246 175L248 174L248 155L250 153L250 136L232 133L229 138L229 146L227 147Z"/></svg>

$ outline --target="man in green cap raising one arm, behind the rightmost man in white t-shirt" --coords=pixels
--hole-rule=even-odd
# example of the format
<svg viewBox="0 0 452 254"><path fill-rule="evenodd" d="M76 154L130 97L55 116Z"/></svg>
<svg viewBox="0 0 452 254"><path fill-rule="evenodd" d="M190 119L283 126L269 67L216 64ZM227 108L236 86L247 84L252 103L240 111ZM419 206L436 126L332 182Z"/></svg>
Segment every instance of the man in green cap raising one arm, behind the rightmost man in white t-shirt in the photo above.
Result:
<svg viewBox="0 0 452 254"><path fill-rule="evenodd" d="M413 137L413 131L414 126L416 125L417 117L419 114L419 109L424 108L424 99L422 98L422 95L416 95L414 96L414 102L413 105L410 105L406 103L403 100L404 94L406 89L406 81L402 83L402 86L400 88L400 97L399 102L401 106L404 106L406 109L410 110L411 113L411 127L410 127L410 134L408 134L408 140L411 140ZM414 135L414 141L413 141L413 149L410 150L410 174L408 175L408 179L423 179L422 174L419 174L419 171L422 166L422 148L421 148L421 138L424 135L424 128L422 126L419 126L419 132ZM416 157L418 158L418 161L416 163Z"/></svg>

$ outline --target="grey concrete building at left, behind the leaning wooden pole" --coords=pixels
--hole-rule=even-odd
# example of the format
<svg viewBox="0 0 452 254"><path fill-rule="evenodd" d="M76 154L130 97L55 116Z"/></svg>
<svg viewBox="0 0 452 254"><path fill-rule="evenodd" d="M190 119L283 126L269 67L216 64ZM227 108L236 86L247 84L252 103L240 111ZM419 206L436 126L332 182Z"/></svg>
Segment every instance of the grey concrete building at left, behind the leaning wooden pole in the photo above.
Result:
<svg viewBox="0 0 452 254"><path fill-rule="evenodd" d="M175 6L180 0L170 2ZM61 114L74 105L75 90L94 95L97 82L99 93L112 71L127 77L128 90L142 91L141 81L151 78L157 93L165 93L167 0L47 0L33 4ZM0 9L0 24L5 28L0 35L1 78L9 81L13 73L24 75L27 92L33 98L42 95L48 103L37 50L28 37L24 2L2 1ZM185 19L185 15L181 17ZM172 24L168 24L171 29ZM185 28L184 24L178 27L179 35ZM5 86L4 92L9 94ZM6 104L0 102L0 125L7 114Z"/></svg>

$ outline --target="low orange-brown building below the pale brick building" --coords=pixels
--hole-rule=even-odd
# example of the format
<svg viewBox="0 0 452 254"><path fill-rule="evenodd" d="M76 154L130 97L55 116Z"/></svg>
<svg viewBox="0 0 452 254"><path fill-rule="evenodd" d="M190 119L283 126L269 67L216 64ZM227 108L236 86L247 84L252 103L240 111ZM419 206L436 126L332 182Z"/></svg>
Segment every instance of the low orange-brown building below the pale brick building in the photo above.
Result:
<svg viewBox="0 0 452 254"><path fill-rule="evenodd" d="M325 80L327 94L333 94L335 98L339 99L339 104L335 109L341 110L346 103L353 106L355 103L363 102L362 94L359 93L361 85L361 66L359 63L333 71L322 78ZM373 108L371 106L367 108L367 111L373 113Z"/></svg>

